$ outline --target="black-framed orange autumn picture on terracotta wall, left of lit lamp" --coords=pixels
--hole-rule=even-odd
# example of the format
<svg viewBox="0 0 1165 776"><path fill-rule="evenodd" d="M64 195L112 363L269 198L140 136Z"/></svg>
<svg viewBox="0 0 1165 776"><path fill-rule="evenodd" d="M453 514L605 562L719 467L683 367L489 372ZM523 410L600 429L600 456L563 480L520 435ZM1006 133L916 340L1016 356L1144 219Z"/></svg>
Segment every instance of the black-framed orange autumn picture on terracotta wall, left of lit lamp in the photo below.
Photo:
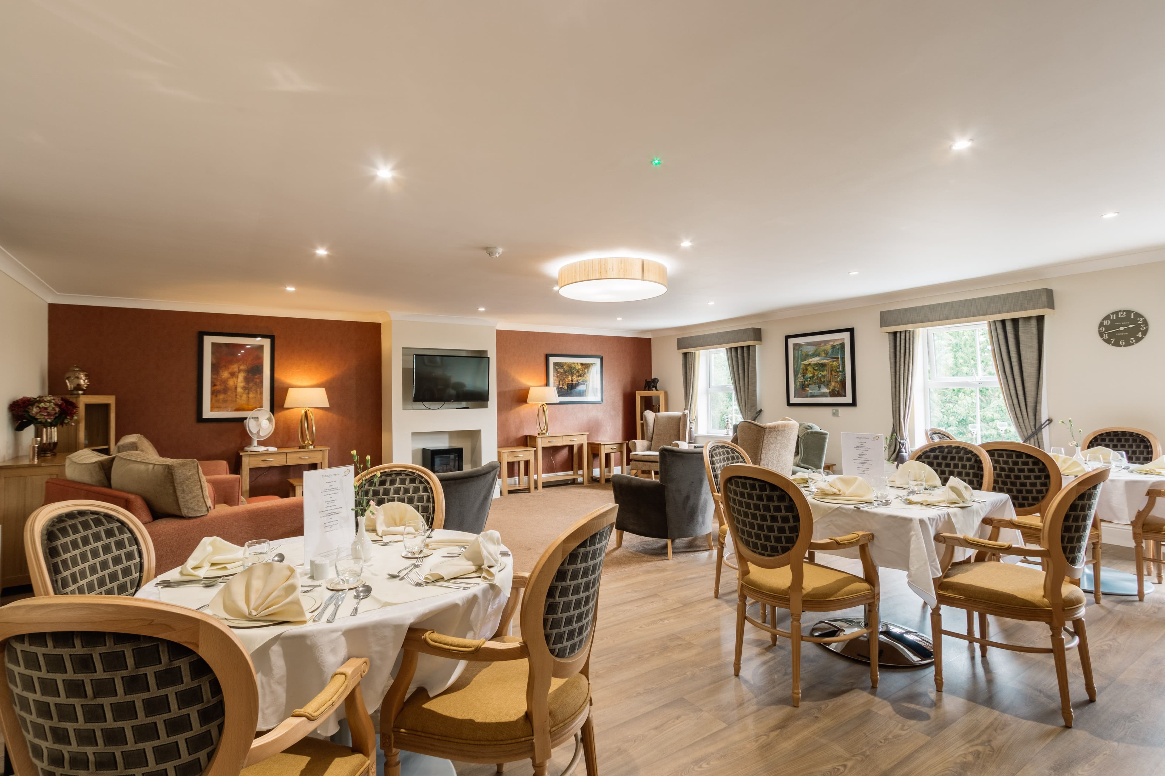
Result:
<svg viewBox="0 0 1165 776"><path fill-rule="evenodd" d="M198 421L275 412L275 335L198 333Z"/></svg>

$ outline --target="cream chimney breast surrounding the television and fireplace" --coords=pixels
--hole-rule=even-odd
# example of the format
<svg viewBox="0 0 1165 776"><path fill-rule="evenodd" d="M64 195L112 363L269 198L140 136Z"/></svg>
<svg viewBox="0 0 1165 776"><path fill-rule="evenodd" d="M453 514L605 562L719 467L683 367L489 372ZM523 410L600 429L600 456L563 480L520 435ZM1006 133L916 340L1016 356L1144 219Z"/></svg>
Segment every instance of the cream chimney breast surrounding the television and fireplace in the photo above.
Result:
<svg viewBox="0 0 1165 776"><path fill-rule="evenodd" d="M426 432L481 432L481 463L497 460L497 335L493 326L465 323L438 323L415 320L393 320L384 323L391 327L388 336L391 348L391 390L393 401L391 428L386 436L390 439L391 461L397 463L412 462L412 434ZM382 334L382 341L384 335ZM489 353L489 407L486 410L404 410L403 392L411 386L402 385L403 368L402 350L404 348L451 348L465 350L486 350ZM453 442L454 444L457 442ZM469 450L465 451L466 468L469 468Z"/></svg>

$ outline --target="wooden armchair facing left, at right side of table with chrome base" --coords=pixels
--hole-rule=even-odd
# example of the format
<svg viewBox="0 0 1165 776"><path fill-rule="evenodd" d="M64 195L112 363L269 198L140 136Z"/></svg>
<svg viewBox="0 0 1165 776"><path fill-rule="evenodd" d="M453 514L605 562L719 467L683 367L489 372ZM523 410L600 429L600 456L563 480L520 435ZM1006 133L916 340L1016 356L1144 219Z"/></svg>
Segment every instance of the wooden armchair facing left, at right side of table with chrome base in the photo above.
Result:
<svg viewBox="0 0 1165 776"><path fill-rule="evenodd" d="M1052 499L1044 515L1039 546L1016 547L1010 542L990 541L976 536L937 534L934 541L945 544L939 568L942 576L934 579L938 603L931 608L931 641L934 643L934 688L942 691L942 636L954 636L983 647L1012 652L1051 653L1055 658L1055 678L1060 685L1060 714L1072 727L1072 698L1068 693L1068 664L1066 649L1079 647L1080 667L1083 669L1088 699L1096 699L1092 661L1088 656L1088 635L1085 631L1087 597L1080 589L1079 577L1085 567L1088 533L1096 514L1096 499L1101 484L1108 479L1109 468L1076 477ZM993 526L990 518L984 525ZM954 548L976 551L973 561L952 563ZM989 556L1018 555L1046 562L1044 570L1018 563L1001 563ZM1068 574L1072 577L1068 577ZM954 606L984 615L977 636L942 629L942 607ZM991 641L987 636L987 614L1012 620L1044 622L1051 631L1052 646ZM1065 642L1064 631L1072 622L1071 640ZM984 653L986 654L986 650Z"/></svg>

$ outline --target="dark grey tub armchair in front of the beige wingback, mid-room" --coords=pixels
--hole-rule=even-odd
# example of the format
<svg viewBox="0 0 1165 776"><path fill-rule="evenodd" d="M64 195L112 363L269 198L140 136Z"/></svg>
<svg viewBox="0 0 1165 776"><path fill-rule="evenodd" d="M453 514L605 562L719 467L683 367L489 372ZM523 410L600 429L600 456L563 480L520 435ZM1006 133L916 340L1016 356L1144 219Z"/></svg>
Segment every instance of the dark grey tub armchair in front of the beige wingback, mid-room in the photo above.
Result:
<svg viewBox="0 0 1165 776"><path fill-rule="evenodd" d="M679 413L676 413L679 414ZM636 536L668 540L707 536L712 544L712 493L704 474L704 450L664 447L659 449L659 479L615 475L610 479L619 515L615 518L615 547L623 543L623 532Z"/></svg>

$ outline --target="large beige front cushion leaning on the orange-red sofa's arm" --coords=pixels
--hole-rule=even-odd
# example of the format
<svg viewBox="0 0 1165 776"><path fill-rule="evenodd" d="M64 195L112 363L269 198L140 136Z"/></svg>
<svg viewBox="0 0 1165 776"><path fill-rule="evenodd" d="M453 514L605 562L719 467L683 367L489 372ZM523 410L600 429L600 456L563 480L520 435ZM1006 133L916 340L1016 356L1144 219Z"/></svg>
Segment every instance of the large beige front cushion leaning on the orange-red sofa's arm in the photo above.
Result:
<svg viewBox="0 0 1165 776"><path fill-rule="evenodd" d="M203 470L193 458L119 453L110 485L141 496L156 517L200 518L214 506Z"/></svg>

